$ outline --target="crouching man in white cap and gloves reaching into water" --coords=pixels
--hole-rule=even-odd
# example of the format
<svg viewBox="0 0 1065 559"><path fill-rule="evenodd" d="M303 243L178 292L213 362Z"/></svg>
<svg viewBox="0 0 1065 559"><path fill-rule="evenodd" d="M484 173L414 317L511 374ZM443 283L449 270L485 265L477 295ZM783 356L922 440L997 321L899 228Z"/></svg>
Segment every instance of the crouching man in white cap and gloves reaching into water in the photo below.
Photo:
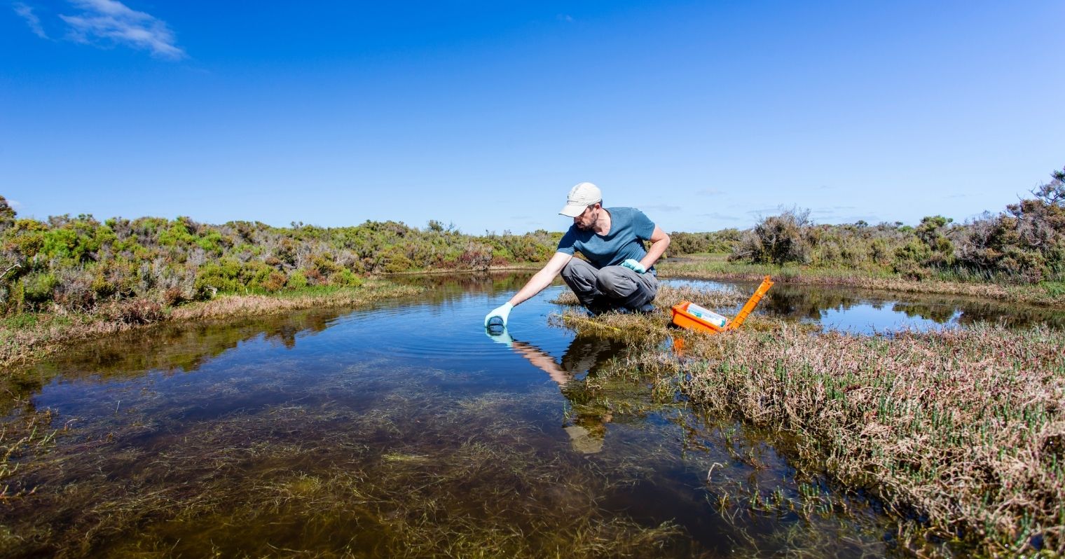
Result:
<svg viewBox="0 0 1065 559"><path fill-rule="evenodd" d="M509 301L485 316L485 326L497 316L505 328L510 311L559 274L593 313L654 310L651 301L658 293L654 265L666 252L669 235L635 208L603 208L603 194L590 182L574 186L559 213L572 217L573 226L557 252ZM651 242L650 248L644 248L644 241ZM588 262L573 258L575 252Z"/></svg>

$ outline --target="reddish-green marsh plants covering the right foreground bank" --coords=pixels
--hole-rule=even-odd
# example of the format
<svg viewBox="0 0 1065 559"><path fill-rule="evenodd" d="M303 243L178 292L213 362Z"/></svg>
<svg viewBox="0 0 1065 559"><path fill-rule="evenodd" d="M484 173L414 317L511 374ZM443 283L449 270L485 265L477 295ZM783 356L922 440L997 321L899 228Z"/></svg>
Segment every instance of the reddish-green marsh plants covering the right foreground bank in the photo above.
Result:
<svg viewBox="0 0 1065 559"><path fill-rule="evenodd" d="M575 318L566 311L558 320L602 333ZM630 332L636 350L615 367L679 377L678 396L790 434L800 467L879 497L900 543L948 556L956 545L1065 553L1065 333L983 326L810 335L761 318L719 335L674 330L685 341L677 359L646 343L669 333L663 318L592 322Z"/></svg>

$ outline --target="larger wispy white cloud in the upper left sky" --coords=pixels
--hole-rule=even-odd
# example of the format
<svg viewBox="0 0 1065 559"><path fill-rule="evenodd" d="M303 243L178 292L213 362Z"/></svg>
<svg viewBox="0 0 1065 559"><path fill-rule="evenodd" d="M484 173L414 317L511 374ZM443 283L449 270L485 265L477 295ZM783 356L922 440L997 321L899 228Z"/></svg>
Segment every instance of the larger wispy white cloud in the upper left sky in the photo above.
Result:
<svg viewBox="0 0 1065 559"><path fill-rule="evenodd" d="M166 22L144 12L131 10L117 0L71 0L82 10L60 18L70 26L68 37L92 45L96 42L126 45L150 51L153 56L169 60L185 57L185 51L175 43Z"/></svg>

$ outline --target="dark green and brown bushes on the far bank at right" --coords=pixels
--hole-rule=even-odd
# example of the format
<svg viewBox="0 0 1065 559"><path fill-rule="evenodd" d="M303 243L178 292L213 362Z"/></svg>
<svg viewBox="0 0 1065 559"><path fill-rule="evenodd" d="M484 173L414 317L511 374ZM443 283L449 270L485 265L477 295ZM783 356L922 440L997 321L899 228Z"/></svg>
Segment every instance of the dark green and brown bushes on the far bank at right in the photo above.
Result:
<svg viewBox="0 0 1065 559"><path fill-rule="evenodd" d="M808 211L769 216L743 233L730 260L890 272L906 279L1034 284L1065 278L1065 170L1032 198L967 224L933 215L917 227L864 221L818 226Z"/></svg>

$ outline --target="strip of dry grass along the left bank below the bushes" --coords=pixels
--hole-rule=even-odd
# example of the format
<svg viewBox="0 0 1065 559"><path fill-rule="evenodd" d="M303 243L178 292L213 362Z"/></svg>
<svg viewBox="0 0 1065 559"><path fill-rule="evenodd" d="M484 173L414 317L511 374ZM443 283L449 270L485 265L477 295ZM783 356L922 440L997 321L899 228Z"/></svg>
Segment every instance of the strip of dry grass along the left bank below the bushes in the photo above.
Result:
<svg viewBox="0 0 1065 559"><path fill-rule="evenodd" d="M164 309L149 301L95 314L34 313L0 323L0 367L37 361L79 340L102 338L149 324L280 313L322 307L362 307L410 296L419 287L372 279L359 287L309 287L278 295L220 295L208 301Z"/></svg>

